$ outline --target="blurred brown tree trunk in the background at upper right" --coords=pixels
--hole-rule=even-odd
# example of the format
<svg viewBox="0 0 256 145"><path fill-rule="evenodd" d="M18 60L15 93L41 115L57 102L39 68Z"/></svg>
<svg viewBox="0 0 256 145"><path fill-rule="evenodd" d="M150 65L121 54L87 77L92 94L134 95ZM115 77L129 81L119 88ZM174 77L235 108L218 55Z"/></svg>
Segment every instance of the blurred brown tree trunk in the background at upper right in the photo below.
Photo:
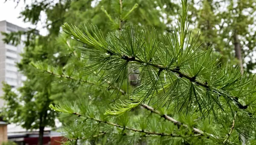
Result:
<svg viewBox="0 0 256 145"><path fill-rule="evenodd" d="M238 38L238 35L236 33L236 30L234 32L234 44L235 44L235 53L236 53L236 58L239 60L239 65L241 67L241 74L244 73L244 67L243 67L243 60L242 60L242 53L241 53L241 45L240 45L240 41Z"/></svg>

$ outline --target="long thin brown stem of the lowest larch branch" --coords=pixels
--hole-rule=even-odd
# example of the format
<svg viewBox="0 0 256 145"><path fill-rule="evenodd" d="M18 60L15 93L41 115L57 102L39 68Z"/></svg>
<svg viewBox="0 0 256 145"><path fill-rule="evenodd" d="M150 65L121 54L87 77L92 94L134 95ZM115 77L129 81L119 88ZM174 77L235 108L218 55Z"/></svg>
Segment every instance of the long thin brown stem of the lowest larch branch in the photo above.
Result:
<svg viewBox="0 0 256 145"><path fill-rule="evenodd" d="M139 129L136 129L136 128L128 128L126 126L121 126L121 125L118 125L118 124L115 124L115 123L112 123L112 122L107 122L107 121L103 121L103 120L100 120L100 119L96 119L96 118L93 118L93 117L88 117L88 116L85 116L85 115L82 115L80 113L72 113L74 115L77 115L78 117L80 116L83 116L87 119L92 119L92 120L95 120L97 122L100 122L100 123L105 123L107 125L112 125L112 126L116 126L118 128L123 128L124 130L130 130L130 131L135 131L135 132L140 132L140 133L146 133L148 135L157 135L157 136L172 136L172 137L195 137L195 136L201 136L202 134L196 134L194 136L181 136L181 135L174 135L174 134L167 134L167 133L156 133L156 132L150 132L150 131L144 131L144 130L139 130Z"/></svg>

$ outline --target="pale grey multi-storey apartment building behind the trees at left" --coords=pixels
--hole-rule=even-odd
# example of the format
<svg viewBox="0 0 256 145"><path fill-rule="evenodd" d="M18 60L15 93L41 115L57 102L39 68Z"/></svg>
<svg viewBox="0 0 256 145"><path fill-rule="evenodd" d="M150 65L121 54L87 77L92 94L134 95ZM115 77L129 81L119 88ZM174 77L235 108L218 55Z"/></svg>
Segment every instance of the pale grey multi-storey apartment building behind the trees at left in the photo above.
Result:
<svg viewBox="0 0 256 145"><path fill-rule="evenodd" d="M17 32L26 31L26 29L16 26L7 21L0 21L0 32ZM0 96L3 96L2 82L5 81L13 88L20 87L22 81L25 80L25 76L18 72L16 62L20 61L20 53L23 50L24 45L19 44L14 46L12 44L5 44L3 38L5 36L0 33ZM24 36L21 38L24 40ZM3 100L0 99L0 107L3 106Z"/></svg>

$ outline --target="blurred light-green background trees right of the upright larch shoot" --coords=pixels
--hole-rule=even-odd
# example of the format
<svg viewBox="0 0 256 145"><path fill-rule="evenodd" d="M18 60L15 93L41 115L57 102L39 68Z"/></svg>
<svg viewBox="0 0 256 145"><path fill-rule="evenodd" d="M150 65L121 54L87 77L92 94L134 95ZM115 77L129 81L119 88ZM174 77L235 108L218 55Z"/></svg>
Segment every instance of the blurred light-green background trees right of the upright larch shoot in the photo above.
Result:
<svg viewBox="0 0 256 145"><path fill-rule="evenodd" d="M237 64L242 72L254 70L255 11L253 0L191 1L191 17L201 32L201 41L221 54L222 64ZM196 31L197 32L197 31Z"/></svg>

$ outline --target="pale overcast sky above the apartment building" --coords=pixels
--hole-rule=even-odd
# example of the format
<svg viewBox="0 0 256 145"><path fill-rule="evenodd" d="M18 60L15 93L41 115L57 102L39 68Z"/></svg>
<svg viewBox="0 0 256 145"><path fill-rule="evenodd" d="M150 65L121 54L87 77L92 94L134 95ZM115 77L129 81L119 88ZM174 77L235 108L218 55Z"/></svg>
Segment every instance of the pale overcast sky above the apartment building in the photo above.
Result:
<svg viewBox="0 0 256 145"><path fill-rule="evenodd" d="M20 12L24 9L25 4L24 0L20 0L20 3L15 8L17 3L14 3L13 0L7 0L6 3L4 3L5 0L0 0L0 21L6 20L9 23L13 23L17 26L27 28L35 28L34 25L31 23L24 23L22 18L18 18L20 16ZM26 3L30 3L31 0L26 0ZM44 14L42 14L42 19L44 19ZM38 30L40 30L41 35L45 35L46 31L42 30L42 24L38 23L36 26Z"/></svg>

